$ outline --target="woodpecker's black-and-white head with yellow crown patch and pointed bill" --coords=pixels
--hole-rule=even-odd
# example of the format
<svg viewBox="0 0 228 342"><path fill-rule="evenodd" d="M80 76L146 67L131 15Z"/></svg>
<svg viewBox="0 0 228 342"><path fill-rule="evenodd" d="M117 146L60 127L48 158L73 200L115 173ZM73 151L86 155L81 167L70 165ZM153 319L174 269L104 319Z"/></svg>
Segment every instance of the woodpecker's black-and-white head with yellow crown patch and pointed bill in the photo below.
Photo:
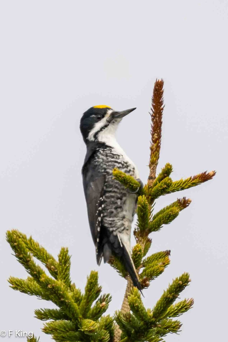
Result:
<svg viewBox="0 0 228 342"><path fill-rule="evenodd" d="M80 130L84 142L102 142L107 136L113 136L122 118L135 109L115 111L106 105L89 108L82 115L80 121Z"/></svg>

